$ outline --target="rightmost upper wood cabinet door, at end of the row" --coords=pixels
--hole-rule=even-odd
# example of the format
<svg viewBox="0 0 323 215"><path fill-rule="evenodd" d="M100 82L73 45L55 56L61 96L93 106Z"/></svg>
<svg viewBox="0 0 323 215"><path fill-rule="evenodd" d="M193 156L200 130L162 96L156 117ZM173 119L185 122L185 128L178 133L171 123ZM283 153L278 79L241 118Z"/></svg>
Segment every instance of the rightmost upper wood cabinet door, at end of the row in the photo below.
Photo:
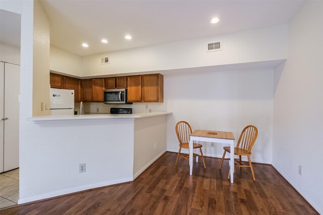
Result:
<svg viewBox="0 0 323 215"><path fill-rule="evenodd" d="M143 75L141 96L143 102L163 102L164 76L160 74Z"/></svg>

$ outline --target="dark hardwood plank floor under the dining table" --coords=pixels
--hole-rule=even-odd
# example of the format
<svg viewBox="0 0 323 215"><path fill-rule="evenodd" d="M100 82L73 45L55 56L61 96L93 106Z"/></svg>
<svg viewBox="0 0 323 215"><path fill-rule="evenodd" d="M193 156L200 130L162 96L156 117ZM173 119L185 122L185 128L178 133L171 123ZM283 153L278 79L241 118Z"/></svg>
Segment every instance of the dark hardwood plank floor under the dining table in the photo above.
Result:
<svg viewBox="0 0 323 215"><path fill-rule="evenodd" d="M0 214L316 214L270 165L236 168L220 159L194 163L166 153L134 182L1 210Z"/></svg>

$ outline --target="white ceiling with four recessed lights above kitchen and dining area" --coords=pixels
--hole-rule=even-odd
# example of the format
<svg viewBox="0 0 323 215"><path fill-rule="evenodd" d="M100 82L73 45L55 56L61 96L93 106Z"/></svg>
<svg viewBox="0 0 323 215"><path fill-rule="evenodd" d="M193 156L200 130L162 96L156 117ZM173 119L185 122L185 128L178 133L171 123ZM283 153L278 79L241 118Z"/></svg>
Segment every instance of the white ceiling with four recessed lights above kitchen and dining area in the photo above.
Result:
<svg viewBox="0 0 323 215"><path fill-rule="evenodd" d="M52 45L84 56L287 24L304 1L56 1L42 6ZM220 22L210 24L212 17ZM124 39L131 34L132 40ZM109 41L102 44L105 38ZM89 47L81 46L83 42Z"/></svg>

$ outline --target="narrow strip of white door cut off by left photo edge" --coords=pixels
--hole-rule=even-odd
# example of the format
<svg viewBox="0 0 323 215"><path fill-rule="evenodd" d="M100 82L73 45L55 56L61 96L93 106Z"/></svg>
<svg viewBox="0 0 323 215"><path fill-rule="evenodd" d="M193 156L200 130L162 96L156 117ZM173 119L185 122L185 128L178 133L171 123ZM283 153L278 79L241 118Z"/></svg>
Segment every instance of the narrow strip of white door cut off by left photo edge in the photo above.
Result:
<svg viewBox="0 0 323 215"><path fill-rule="evenodd" d="M4 171L4 90L5 63L0 62L0 173Z"/></svg>

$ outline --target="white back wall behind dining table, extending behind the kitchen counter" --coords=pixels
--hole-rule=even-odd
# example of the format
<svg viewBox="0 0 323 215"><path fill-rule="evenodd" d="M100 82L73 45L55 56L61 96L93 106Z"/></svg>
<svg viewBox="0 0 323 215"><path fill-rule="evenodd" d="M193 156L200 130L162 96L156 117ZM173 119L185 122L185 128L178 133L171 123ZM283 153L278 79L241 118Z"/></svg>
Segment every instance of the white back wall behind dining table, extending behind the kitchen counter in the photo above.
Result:
<svg viewBox="0 0 323 215"><path fill-rule="evenodd" d="M145 105L148 104L148 109ZM103 103L84 103L85 112L109 113ZM241 130L248 124L258 128L252 150L255 162L272 162L273 69L218 71L203 74L164 76L164 103L133 103L122 107L134 113L169 111L167 150L178 152L175 133L177 121L188 121L194 129L233 131L237 144ZM222 157L223 146L203 144L207 156Z"/></svg>

